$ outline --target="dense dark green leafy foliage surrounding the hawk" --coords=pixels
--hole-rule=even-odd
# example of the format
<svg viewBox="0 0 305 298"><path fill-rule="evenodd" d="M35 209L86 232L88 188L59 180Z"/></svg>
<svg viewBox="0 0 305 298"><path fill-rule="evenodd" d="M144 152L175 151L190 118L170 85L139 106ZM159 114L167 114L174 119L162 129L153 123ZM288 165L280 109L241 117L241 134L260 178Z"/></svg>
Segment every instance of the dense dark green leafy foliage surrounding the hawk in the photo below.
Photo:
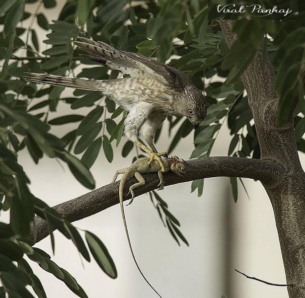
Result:
<svg viewBox="0 0 305 298"><path fill-rule="evenodd" d="M30 267L36 262L62 280L79 297L86 297L76 280L57 266L44 251L33 247L35 228L30 222L39 215L48 222L51 245L55 251L53 228L71 239L87 261L90 254L111 278L117 272L107 249L92 233L85 239L77 229L29 190L29 179L18 162L18 153L27 149L35 163L43 156L59 158L85 187L95 187L89 169L102 149L105 158L115 158L114 146L122 141L126 112L97 92L75 90L73 97L63 97L63 87L36 85L22 79L24 72L72 75L95 79L116 78L117 71L79 56L73 41L77 37L93 38L125 51L155 57L192 77L203 90L208 115L194 133L191 158L210 155L222 126L228 125L232 140L228 155L260 157L255 125L248 106L240 74L247 68L257 49L268 54L275 66L275 88L280 96L279 125L283 125L299 97L295 113L298 149L305 152L305 103L301 74L304 73L305 17L298 19L240 20L234 25L237 41L231 49L218 22L208 19L207 0L69 0L57 20L50 21L41 12L52 9L57 0L2 0L0 2L0 209L9 211L10 223L0 223L0 279L10 297L33 297L25 288L33 288L37 297L46 297L39 278ZM30 13L30 5L36 5ZM37 25L36 25L37 23ZM46 33L40 42L37 27ZM172 56L175 55L175 56ZM225 81L225 83L223 83ZM255 84L255 81L253 82ZM58 116L59 105L71 112ZM86 107L86 115L83 115ZM192 133L188 120L168 117L168 152ZM74 124L65 136L51 133L52 126ZM158 130L155 141L160 135ZM129 156L134 146L124 141L122 155ZM81 156L76 156L81 154ZM138 156L138 153L134 154ZM237 200L237 179L231 178L233 198ZM242 183L242 181L240 180ZM192 183L192 191L203 193L203 180ZM154 206L171 235L188 245L177 219L155 193ZM154 199L153 199L154 198ZM164 222L165 220L165 222ZM17 264L17 266L16 266Z"/></svg>

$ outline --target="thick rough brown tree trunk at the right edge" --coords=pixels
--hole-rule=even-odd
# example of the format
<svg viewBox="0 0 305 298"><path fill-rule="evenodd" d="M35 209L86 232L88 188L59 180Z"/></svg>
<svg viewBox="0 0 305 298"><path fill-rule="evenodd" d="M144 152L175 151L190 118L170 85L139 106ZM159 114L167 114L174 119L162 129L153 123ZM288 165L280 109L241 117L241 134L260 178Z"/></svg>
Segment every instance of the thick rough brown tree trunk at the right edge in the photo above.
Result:
<svg viewBox="0 0 305 298"><path fill-rule="evenodd" d="M229 46L236 40L233 21L221 21ZM285 177L276 185L263 183L273 206L280 239L290 298L305 297L305 173L302 169L291 117L283 127L277 125L278 95L274 89L274 70L267 57L263 65L262 47L244 71L242 81L248 93L261 159L285 168Z"/></svg>

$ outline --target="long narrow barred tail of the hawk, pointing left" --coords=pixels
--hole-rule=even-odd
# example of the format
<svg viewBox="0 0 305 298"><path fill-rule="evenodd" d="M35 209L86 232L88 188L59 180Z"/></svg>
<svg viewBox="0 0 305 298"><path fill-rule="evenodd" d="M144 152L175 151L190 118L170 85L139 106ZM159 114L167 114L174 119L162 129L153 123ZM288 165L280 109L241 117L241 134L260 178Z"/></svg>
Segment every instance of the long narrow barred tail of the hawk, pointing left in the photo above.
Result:
<svg viewBox="0 0 305 298"><path fill-rule="evenodd" d="M63 86L83 90L102 91L103 81L88 78L75 78L53 74L24 73L23 78L27 81L54 86Z"/></svg>

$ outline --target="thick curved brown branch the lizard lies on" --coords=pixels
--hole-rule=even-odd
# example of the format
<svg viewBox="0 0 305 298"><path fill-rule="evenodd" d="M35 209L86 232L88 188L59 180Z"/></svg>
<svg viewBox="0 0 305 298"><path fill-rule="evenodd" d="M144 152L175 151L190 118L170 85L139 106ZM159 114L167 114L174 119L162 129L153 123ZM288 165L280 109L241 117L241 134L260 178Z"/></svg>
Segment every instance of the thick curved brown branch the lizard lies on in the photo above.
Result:
<svg viewBox="0 0 305 298"><path fill-rule="evenodd" d="M203 157L187 161L185 176L172 172L164 174L164 185L210 178L210 177L243 177L260 180L272 188L282 181L284 168L270 160L259 160L242 157ZM111 177L109 177L110 180ZM158 187L158 176L155 173L144 174L145 185L135 190L136 196L147 193ZM125 185L124 200L128 200L128 189L136 182L129 179ZM119 203L119 181L110 183L76 199L53 207L64 219L75 222L89 217ZM48 236L47 222L40 217L34 218L37 229L37 242Z"/></svg>

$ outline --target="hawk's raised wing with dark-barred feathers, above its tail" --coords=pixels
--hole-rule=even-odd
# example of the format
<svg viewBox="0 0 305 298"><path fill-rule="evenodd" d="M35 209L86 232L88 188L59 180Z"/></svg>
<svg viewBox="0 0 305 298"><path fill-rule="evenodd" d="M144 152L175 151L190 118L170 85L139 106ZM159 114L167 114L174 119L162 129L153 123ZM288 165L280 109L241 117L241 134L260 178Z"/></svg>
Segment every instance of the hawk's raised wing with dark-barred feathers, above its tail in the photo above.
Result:
<svg viewBox="0 0 305 298"><path fill-rule="evenodd" d="M143 77L143 74L164 83L176 85L180 82L177 70L159 63L153 58L144 57L135 53L116 50L104 42L95 42L88 38L80 38L81 42L74 42L81 50L93 54L85 56L93 61L106 64L111 69L130 74L133 77ZM181 73L180 76L185 76ZM186 77L186 76L185 76Z"/></svg>

